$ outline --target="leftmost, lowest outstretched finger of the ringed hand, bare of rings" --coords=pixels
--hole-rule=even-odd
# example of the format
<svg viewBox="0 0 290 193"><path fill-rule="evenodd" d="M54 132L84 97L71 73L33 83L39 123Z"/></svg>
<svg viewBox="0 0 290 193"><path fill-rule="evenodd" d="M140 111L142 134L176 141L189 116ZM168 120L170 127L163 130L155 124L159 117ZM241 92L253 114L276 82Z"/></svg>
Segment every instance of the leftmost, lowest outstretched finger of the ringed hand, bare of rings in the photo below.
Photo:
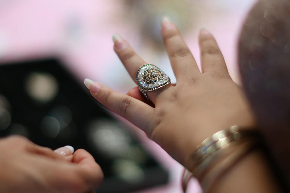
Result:
<svg viewBox="0 0 290 193"><path fill-rule="evenodd" d="M154 108L131 96L118 93L100 83L85 79L85 85L92 96L111 111L121 115L147 135L155 128Z"/></svg>

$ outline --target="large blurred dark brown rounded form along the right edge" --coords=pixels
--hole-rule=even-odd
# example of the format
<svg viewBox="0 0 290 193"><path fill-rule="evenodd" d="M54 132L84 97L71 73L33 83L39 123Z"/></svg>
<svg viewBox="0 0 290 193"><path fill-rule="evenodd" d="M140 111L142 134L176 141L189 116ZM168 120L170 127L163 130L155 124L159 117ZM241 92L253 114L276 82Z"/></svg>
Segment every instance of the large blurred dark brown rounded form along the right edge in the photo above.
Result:
<svg viewBox="0 0 290 193"><path fill-rule="evenodd" d="M290 184L290 1L261 0L239 41L240 73L257 122Z"/></svg>

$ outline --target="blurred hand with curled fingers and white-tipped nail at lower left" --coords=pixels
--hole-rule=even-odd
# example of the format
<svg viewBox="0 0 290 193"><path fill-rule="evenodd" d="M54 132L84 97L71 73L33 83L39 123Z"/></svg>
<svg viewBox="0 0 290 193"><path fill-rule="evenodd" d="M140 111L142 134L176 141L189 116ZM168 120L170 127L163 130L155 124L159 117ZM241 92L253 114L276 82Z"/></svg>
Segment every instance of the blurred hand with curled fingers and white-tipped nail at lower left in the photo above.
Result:
<svg viewBox="0 0 290 193"><path fill-rule="evenodd" d="M0 171L1 193L85 193L103 179L87 151L79 149L73 155L66 147L53 151L20 136L0 139Z"/></svg>

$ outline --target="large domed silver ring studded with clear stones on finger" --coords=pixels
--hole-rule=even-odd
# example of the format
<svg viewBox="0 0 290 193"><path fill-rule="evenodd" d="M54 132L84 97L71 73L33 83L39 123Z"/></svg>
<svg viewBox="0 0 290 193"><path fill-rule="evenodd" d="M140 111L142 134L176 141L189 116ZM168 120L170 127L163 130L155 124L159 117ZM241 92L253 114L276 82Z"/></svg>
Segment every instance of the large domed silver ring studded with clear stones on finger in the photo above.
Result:
<svg viewBox="0 0 290 193"><path fill-rule="evenodd" d="M170 78L160 68L153 64L142 65L136 73L136 82L140 92L148 99L147 92L164 88L171 83Z"/></svg>

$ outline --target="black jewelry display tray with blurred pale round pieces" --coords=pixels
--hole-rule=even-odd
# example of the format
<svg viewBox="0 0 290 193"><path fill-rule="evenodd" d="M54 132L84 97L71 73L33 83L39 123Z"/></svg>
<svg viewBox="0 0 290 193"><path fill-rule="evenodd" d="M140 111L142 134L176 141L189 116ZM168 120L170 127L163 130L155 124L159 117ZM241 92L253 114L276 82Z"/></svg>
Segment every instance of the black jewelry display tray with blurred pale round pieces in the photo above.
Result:
<svg viewBox="0 0 290 193"><path fill-rule="evenodd" d="M89 151L105 174L97 193L168 182L168 172L136 136L56 59L0 64L1 109L0 137L20 134L52 149L71 145Z"/></svg>

